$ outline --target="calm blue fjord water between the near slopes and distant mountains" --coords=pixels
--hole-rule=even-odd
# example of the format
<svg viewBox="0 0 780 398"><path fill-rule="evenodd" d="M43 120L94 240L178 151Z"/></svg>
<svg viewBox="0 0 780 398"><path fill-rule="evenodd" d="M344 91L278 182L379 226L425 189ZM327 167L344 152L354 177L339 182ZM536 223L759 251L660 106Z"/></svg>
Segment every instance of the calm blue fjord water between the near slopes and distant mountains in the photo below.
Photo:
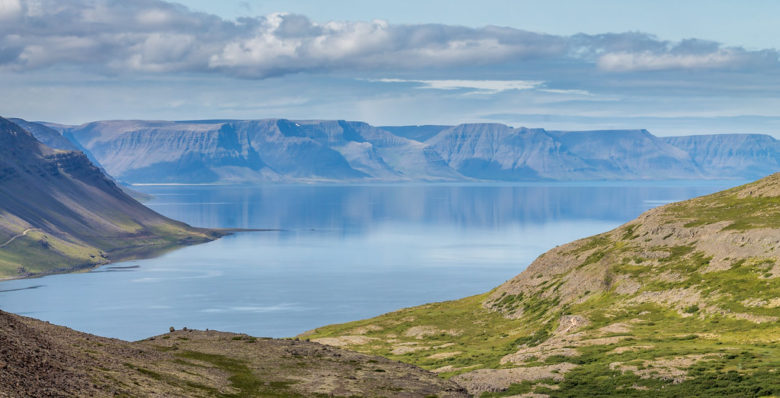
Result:
<svg viewBox="0 0 780 398"><path fill-rule="evenodd" d="M0 308L129 340L169 326L292 336L482 293L555 245L737 184L139 187L192 225L279 231L2 282Z"/></svg>

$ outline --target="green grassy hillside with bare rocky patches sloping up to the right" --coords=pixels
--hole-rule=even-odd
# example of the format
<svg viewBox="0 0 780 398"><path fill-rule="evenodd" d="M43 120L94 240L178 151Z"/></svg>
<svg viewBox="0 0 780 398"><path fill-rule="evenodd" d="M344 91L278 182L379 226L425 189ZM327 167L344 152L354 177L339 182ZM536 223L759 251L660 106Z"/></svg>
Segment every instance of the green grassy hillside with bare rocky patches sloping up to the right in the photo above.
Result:
<svg viewBox="0 0 780 398"><path fill-rule="evenodd" d="M780 394L780 173L550 250L482 295L322 327L476 395Z"/></svg>

